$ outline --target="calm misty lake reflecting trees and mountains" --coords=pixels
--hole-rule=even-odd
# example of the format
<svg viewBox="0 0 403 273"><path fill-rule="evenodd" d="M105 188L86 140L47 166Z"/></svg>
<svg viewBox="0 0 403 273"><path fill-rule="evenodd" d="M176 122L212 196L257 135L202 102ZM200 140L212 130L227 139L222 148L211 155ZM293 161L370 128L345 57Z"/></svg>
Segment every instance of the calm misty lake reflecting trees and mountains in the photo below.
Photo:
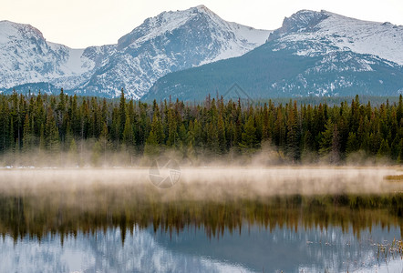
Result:
<svg viewBox="0 0 403 273"><path fill-rule="evenodd" d="M75 172L0 173L0 272L403 271L403 193L377 177L395 170L363 184L385 192L344 181L350 192L311 195L301 191L318 181L290 170L260 194L239 181L161 190L122 170ZM292 185L288 195L264 189Z"/></svg>

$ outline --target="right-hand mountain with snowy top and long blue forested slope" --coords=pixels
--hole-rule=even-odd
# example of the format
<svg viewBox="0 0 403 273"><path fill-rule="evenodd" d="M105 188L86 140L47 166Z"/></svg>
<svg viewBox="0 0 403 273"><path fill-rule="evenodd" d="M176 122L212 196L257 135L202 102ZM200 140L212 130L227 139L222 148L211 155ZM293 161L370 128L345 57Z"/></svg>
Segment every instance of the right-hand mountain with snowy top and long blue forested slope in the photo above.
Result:
<svg viewBox="0 0 403 273"><path fill-rule="evenodd" d="M398 96L402 78L403 26L303 10L285 18L264 45L163 76L145 98L203 99L212 90L225 95L234 83L256 98Z"/></svg>

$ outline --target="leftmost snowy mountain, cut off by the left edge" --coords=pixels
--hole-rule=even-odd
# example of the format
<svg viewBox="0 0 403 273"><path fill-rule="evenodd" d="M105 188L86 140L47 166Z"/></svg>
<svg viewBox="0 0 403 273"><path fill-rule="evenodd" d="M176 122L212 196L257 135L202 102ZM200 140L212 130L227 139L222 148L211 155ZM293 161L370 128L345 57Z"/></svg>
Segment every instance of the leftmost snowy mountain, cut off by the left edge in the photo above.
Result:
<svg viewBox="0 0 403 273"><path fill-rule="evenodd" d="M0 21L0 87L81 76L94 68L83 52L47 42L31 25Z"/></svg>

